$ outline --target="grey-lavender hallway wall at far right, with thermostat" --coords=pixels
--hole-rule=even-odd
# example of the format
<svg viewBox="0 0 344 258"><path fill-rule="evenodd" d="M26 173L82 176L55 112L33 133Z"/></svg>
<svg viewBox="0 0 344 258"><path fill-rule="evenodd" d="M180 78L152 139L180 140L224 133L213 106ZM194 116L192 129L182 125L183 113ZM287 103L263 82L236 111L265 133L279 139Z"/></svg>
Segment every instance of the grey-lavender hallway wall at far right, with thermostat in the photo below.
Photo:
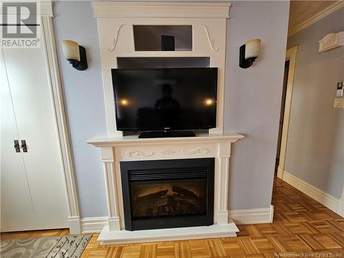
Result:
<svg viewBox="0 0 344 258"><path fill-rule="evenodd" d="M288 39L299 48L285 170L336 198L344 183L344 112L333 104L344 80L344 47L319 54L318 41L344 31L343 17L341 8Z"/></svg>

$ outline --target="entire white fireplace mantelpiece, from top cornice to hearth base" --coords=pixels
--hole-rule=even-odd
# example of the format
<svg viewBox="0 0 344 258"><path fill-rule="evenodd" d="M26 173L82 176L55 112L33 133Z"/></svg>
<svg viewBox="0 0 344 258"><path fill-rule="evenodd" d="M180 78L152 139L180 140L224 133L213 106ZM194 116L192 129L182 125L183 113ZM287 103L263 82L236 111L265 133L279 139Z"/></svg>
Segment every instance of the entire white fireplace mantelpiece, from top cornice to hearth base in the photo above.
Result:
<svg viewBox="0 0 344 258"><path fill-rule="evenodd" d="M230 3L93 1L92 6L98 23L108 136L87 141L100 148L105 171L109 218L108 226L103 228L98 241L101 244L121 244L235 236L239 230L228 219L230 145L244 136L223 133L226 25ZM134 25L191 25L192 50L136 51ZM208 134L191 138L138 139L138 136L122 136L122 131L116 127L111 69L118 67L118 58L133 57L208 57L209 67L218 69L216 127L209 129ZM186 158L215 158L214 225L125 230L120 162Z"/></svg>

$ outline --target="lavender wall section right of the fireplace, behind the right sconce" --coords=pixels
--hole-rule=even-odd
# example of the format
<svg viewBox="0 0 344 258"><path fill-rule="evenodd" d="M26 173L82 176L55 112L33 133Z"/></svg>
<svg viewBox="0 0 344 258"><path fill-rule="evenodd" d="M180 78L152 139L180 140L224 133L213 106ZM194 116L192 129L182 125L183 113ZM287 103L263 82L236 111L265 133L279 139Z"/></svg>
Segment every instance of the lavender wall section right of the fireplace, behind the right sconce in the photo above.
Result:
<svg viewBox="0 0 344 258"><path fill-rule="evenodd" d="M233 1L227 28L225 131L246 136L230 157L231 209L271 204L289 2ZM261 56L239 67L239 46L261 39Z"/></svg>

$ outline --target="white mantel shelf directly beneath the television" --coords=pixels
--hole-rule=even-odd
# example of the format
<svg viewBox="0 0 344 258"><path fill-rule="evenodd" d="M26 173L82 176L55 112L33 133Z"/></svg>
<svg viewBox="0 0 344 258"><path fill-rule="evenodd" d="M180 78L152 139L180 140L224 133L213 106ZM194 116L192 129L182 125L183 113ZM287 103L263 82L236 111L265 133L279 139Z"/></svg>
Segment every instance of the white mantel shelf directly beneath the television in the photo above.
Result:
<svg viewBox="0 0 344 258"><path fill-rule="evenodd" d="M244 138L239 133L213 133L197 134L196 137L171 137L171 138L145 138L138 136L100 137L87 140L87 143L96 147L111 147L125 144L155 144L155 143L195 143L195 142L236 142Z"/></svg>

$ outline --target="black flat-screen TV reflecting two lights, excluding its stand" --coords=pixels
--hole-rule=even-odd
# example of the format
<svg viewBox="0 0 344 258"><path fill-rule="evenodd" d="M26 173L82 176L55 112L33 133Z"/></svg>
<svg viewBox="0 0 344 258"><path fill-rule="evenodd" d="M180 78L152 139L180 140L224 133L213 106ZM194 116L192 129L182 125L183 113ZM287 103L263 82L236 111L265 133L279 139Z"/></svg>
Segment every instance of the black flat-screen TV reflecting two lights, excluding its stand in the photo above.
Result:
<svg viewBox="0 0 344 258"><path fill-rule="evenodd" d="M111 72L119 131L216 127L217 68Z"/></svg>

